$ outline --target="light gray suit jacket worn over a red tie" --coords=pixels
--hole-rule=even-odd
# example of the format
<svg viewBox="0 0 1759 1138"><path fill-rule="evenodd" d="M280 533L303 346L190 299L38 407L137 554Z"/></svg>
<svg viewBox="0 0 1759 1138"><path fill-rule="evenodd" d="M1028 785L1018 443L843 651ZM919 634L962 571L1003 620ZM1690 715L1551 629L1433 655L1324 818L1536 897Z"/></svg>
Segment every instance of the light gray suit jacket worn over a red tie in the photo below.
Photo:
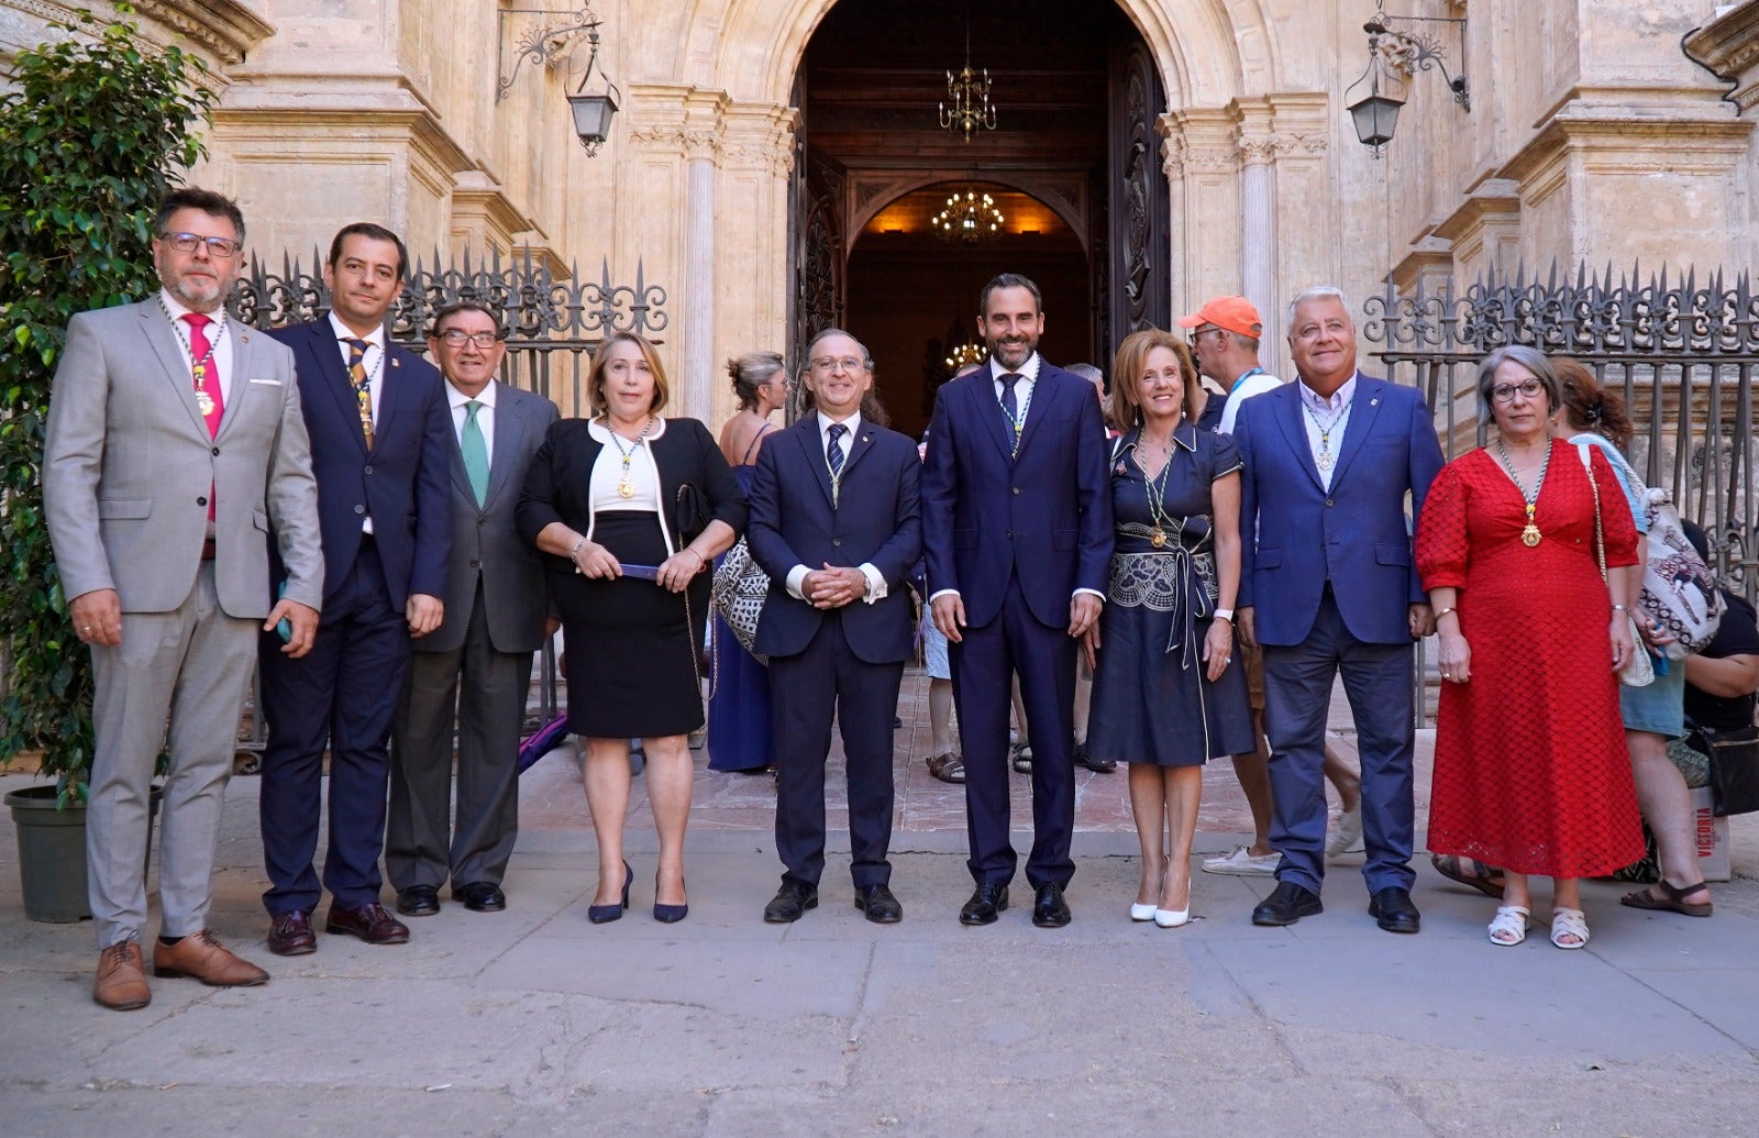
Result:
<svg viewBox="0 0 1759 1138"><path fill-rule="evenodd" d="M42 498L69 600L116 589L123 612L190 595L215 503L215 586L234 617L269 614L269 526L287 596L324 602L311 447L294 354L227 322L230 396L220 433L195 406L190 361L157 301L81 313L55 371ZM209 489L213 487L213 489Z"/></svg>

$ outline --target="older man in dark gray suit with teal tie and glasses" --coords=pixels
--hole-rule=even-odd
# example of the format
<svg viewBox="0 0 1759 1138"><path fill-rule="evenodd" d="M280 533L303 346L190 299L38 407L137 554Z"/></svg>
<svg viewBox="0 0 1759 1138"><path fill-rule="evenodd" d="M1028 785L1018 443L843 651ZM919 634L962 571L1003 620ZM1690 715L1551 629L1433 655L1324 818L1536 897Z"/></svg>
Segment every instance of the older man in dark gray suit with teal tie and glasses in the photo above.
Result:
<svg viewBox="0 0 1759 1138"><path fill-rule="evenodd" d="M507 345L482 304L442 308L427 350L452 408L452 568L445 619L413 642L390 728L385 869L405 916L438 913L447 878L466 909L498 913L519 834L531 653L552 631L544 565L519 540L514 507L558 412L544 396L494 380ZM454 721L457 820L449 827Z"/></svg>

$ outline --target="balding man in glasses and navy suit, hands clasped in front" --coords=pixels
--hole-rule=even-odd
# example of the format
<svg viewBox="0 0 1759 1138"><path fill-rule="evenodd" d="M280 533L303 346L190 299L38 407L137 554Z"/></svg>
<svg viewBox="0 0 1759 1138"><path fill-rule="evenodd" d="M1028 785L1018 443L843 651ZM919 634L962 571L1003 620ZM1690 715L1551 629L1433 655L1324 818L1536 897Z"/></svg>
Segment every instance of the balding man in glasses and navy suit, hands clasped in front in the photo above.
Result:
<svg viewBox="0 0 1759 1138"><path fill-rule="evenodd" d="M756 651L776 716L781 888L763 920L818 906L825 869L825 756L843 728L855 908L892 923L892 712L915 635L909 591L922 556L916 445L885 427L872 359L841 329L807 347L814 413L769 440L751 480L751 556L770 575Z"/></svg>

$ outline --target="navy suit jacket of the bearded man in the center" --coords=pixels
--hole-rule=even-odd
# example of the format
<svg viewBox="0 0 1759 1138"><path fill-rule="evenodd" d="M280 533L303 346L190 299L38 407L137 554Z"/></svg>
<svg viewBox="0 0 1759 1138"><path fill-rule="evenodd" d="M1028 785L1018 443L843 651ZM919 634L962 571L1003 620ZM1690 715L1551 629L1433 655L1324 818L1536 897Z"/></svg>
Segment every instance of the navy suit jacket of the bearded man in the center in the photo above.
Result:
<svg viewBox="0 0 1759 1138"><path fill-rule="evenodd" d="M1066 628L1075 589L1103 596L1112 577L1110 443L1092 383L1040 361L1018 456L1011 433L989 366L941 387L922 470L929 595L957 589L982 628L1017 573L1033 616Z"/></svg>

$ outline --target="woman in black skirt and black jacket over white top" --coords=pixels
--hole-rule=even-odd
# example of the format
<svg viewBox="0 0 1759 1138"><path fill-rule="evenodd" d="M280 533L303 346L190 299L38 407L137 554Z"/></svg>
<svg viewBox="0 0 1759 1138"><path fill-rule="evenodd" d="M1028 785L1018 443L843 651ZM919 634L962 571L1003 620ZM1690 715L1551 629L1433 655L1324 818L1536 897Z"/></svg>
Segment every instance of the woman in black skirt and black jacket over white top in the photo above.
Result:
<svg viewBox="0 0 1759 1138"><path fill-rule="evenodd" d="M697 649L716 554L737 540L746 501L709 429L661 419L667 382L640 336L617 332L593 355L595 417L551 426L519 500L519 533L547 558L568 644L568 730L588 739L586 806L598 834L593 923L630 904L623 858L630 739L647 751L660 832L654 920L682 920L684 825L702 726Z"/></svg>

